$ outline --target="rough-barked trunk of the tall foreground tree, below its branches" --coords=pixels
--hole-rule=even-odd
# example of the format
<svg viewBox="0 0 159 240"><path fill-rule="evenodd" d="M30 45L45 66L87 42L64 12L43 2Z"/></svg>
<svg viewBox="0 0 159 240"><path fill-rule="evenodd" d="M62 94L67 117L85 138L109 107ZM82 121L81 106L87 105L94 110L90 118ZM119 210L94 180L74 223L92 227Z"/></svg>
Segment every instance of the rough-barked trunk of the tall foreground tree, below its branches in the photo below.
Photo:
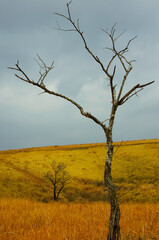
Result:
<svg viewBox="0 0 159 240"><path fill-rule="evenodd" d="M115 186L111 176L111 163L113 158L113 143L111 132L107 135L107 158L104 171L104 182L108 189L108 196L111 205L110 219L109 219L109 233L107 240L119 240L120 236L120 208L116 196Z"/></svg>

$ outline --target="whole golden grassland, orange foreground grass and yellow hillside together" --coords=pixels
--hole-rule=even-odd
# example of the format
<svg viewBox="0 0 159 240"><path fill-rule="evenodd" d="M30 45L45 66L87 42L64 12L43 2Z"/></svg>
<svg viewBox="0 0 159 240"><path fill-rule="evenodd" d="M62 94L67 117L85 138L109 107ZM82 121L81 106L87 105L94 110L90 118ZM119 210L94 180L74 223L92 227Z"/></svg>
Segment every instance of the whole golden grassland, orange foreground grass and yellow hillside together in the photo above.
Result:
<svg viewBox="0 0 159 240"><path fill-rule="evenodd" d="M121 240L159 240L159 139L114 143L112 175ZM0 151L0 240L104 240L110 208L105 144ZM44 177L53 160L72 180L53 202Z"/></svg>

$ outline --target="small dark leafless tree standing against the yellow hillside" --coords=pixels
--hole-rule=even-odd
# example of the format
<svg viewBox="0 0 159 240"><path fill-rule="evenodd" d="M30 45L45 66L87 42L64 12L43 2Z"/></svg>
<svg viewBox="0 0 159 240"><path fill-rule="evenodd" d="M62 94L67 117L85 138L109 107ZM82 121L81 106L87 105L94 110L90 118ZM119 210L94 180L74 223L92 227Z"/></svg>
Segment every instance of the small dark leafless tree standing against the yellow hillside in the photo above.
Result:
<svg viewBox="0 0 159 240"><path fill-rule="evenodd" d="M51 182L53 187L53 197L57 201L59 199L60 193L66 187L67 183L70 181L71 177L66 171L66 164L63 162L57 163L53 161L51 164L52 171L47 172L45 177Z"/></svg>

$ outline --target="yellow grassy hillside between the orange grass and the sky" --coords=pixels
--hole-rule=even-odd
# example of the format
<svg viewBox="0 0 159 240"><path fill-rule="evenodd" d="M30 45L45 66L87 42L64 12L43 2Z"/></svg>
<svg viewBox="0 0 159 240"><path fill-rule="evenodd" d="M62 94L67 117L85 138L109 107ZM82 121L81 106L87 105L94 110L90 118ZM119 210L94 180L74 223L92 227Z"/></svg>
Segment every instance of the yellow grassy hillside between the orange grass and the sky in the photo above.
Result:
<svg viewBox="0 0 159 240"><path fill-rule="evenodd" d="M114 146L112 174L120 202L159 202L159 140ZM66 163L72 177L63 201L105 200L105 155L105 144L0 151L0 197L51 201L51 185L44 175L57 160Z"/></svg>

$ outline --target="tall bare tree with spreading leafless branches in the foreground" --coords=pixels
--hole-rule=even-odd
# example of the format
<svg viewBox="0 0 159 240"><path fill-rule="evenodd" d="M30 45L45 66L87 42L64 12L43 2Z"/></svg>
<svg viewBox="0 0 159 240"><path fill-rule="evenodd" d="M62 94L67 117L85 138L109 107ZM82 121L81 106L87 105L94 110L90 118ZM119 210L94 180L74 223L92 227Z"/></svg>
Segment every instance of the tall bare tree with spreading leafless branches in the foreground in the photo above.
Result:
<svg viewBox="0 0 159 240"><path fill-rule="evenodd" d="M46 87L46 82L44 84L45 78L49 71L51 71L54 68L54 62L50 66L47 66L44 61L38 56L38 63L40 66L40 77L38 80L31 80L28 75L22 70L22 68L19 66L19 62L15 64L15 67L9 67L10 69L13 69L17 71L20 75L15 74L17 78L19 78L22 81L25 81L29 84L35 85L43 90L43 93L48 93L52 94L54 96L60 97L65 99L66 101L72 103L75 107L77 107L80 111L80 113L87 118L90 118L93 120L96 124L98 124L100 127L102 127L105 137L106 137L106 146L107 146L107 155L106 155L106 162L105 162L105 169L104 169L104 182L105 186L108 189L108 196L110 200L110 205L111 205L111 212L110 212L110 220L109 220L109 232L107 236L107 240L118 240L120 236L120 208L119 208L119 203L116 195L116 190L115 186L113 184L112 180L112 175L111 175L111 165L112 165L112 159L113 159L113 139L112 139L112 130L113 130L113 125L114 125L114 119L115 115L117 112L117 109L119 106L123 105L125 102L127 102L130 98L132 98L134 95L137 95L138 92L143 90L145 87L149 86L152 84L154 81L145 83L145 84L136 84L133 86L130 90L128 90L126 93L123 93L123 89L126 83L126 80L128 79L128 76L130 72L133 69L133 61L130 61L126 58L125 54L129 50L129 46L131 42L135 39L132 38L130 39L127 44L125 45L124 48L118 50L116 47L116 42L118 39L121 37L121 34L116 35L115 32L115 25L111 28L111 31L103 30L102 31L106 34L106 36L110 39L111 41L111 48L107 48L112 52L112 57L109 59L107 65L103 64L103 62L100 60L98 56L96 56L93 51L90 50L88 47L87 41L84 37L83 31L80 29L79 25L79 19L77 21L74 21L71 16L71 11L70 11L70 3L67 3L67 12L68 15L65 16L60 13L55 13L61 18L64 18L67 22L69 22L72 26L71 29L63 29L60 27L58 24L58 30L60 31L73 31L79 34L84 47L86 51L90 54L90 56L94 59L94 61L101 67L101 70L103 71L104 75L106 75L108 81L109 81L109 89L111 93L111 112L110 116L107 118L107 120L100 121L98 118L96 118L94 115L91 113L88 113L84 111L83 107L80 106L75 100L62 95L58 92L54 92L49 90ZM115 76L116 76L116 60L118 60L121 69L123 69L123 77L120 82L115 84Z"/></svg>

